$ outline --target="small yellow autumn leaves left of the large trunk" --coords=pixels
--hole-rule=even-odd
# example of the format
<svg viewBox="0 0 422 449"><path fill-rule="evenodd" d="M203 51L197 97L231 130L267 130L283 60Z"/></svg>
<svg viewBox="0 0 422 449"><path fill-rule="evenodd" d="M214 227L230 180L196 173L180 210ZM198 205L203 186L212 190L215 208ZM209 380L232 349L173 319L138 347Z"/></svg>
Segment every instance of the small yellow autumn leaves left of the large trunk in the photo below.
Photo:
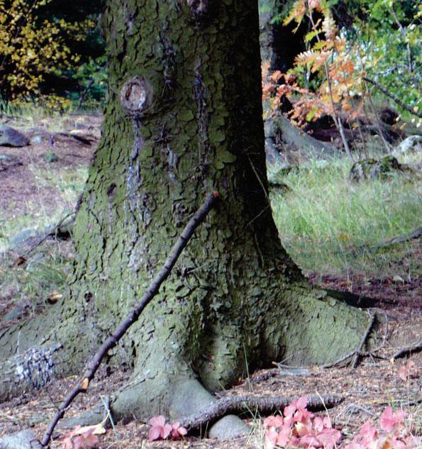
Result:
<svg viewBox="0 0 422 449"><path fill-rule="evenodd" d="M83 40L95 23L87 18L70 23L38 15L52 0L0 0L0 86L7 101L34 99L48 74L77 66L67 39ZM64 101L54 95L44 101Z"/></svg>

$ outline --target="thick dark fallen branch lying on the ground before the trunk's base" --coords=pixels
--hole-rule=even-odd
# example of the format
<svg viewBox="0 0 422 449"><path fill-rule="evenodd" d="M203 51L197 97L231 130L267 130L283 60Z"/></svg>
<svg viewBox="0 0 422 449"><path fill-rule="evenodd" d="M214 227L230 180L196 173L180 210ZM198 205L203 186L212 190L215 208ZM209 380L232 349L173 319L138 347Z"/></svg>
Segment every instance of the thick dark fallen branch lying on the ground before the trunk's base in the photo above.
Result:
<svg viewBox="0 0 422 449"><path fill-rule="evenodd" d="M262 415L272 414L274 411L282 410L288 406L294 398L279 396L229 396L218 399L210 404L200 414L191 414L179 419L180 426L188 430L206 426L226 414L240 414L244 411L258 411ZM310 396L306 408L310 411L332 409L343 402L343 397Z"/></svg>

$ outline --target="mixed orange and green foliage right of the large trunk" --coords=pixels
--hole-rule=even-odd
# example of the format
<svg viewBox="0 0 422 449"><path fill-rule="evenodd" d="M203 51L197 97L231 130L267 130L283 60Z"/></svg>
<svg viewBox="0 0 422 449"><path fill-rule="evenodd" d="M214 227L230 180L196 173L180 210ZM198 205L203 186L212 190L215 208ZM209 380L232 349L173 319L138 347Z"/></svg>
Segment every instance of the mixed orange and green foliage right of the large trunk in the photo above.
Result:
<svg viewBox="0 0 422 449"><path fill-rule="evenodd" d="M269 64L263 65L263 99L269 104L270 113L276 111L286 97L293 105L290 118L296 124L304 125L321 116L331 116L335 123L337 118L354 123L357 117L362 116L364 101L370 94L370 87L373 87L368 87L365 82L368 74L381 84L393 82L393 94L399 93L401 98L406 96L409 106L417 112L418 106L415 105L420 103L420 74L415 62L420 61L420 46L418 48L416 42L421 28L414 23L406 27L401 25L404 14L400 13L399 2L377 0L367 6L367 2L363 1L360 13L367 16L373 27L377 24L379 33L374 35L368 29L370 26L359 19L354 23L355 28L340 29L333 18L332 8L336 3L326 0L294 1L284 18L284 25L296 23L299 27L303 21L309 23L310 31L305 37L306 51L296 56L294 68L287 73L270 73ZM374 11L370 11L371 8ZM422 6L419 6L409 20L418 21L421 17ZM404 45L407 56L405 50L401 54L394 53L396 59L392 60L390 54L394 50L390 42L384 42L383 38L394 39L394 48ZM407 58L406 64L401 62L399 56L405 60ZM401 73L399 79L394 76L396 72ZM390 77L380 78L379 74L390 74ZM404 89L397 91L401 81L406 79L409 82Z"/></svg>

